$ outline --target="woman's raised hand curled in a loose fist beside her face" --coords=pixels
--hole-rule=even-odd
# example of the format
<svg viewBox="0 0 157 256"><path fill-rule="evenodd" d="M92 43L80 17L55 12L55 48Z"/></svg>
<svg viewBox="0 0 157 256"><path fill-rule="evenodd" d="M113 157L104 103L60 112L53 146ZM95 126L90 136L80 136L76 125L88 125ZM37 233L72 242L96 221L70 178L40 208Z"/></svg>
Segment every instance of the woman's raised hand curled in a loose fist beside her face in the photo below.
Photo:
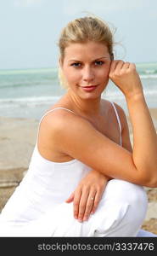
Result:
<svg viewBox="0 0 157 256"><path fill-rule="evenodd" d="M123 92L126 97L142 95L143 87L133 63L125 61L112 61L109 79Z"/></svg>

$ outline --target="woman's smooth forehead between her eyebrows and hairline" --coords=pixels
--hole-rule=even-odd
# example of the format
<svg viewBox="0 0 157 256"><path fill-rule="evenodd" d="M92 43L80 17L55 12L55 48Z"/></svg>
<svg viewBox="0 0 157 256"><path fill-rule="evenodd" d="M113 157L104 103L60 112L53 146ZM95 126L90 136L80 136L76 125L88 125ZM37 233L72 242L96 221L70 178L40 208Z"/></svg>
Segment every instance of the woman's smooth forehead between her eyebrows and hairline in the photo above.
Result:
<svg viewBox="0 0 157 256"><path fill-rule="evenodd" d="M104 55L109 56L109 50L105 44L96 42L71 43L64 50L64 58L91 58L97 59Z"/></svg>

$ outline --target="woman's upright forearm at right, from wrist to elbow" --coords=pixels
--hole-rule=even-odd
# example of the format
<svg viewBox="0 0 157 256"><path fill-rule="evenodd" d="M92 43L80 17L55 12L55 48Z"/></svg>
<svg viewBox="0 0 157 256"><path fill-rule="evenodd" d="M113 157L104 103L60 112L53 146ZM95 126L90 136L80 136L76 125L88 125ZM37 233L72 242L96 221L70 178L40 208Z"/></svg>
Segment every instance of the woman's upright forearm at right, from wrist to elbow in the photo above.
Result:
<svg viewBox="0 0 157 256"><path fill-rule="evenodd" d="M157 135L143 92L126 97L132 121L132 158L137 170L157 176Z"/></svg>

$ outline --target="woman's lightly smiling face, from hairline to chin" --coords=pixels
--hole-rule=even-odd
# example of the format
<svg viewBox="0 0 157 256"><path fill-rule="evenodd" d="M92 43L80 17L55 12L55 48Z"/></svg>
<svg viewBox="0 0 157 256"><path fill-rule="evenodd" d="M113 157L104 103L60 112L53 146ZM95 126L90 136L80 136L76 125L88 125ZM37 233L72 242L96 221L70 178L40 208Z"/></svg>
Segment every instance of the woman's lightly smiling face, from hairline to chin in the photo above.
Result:
<svg viewBox="0 0 157 256"><path fill-rule="evenodd" d="M70 44L60 63L70 90L83 98L101 96L109 82L110 64L108 48L95 42Z"/></svg>

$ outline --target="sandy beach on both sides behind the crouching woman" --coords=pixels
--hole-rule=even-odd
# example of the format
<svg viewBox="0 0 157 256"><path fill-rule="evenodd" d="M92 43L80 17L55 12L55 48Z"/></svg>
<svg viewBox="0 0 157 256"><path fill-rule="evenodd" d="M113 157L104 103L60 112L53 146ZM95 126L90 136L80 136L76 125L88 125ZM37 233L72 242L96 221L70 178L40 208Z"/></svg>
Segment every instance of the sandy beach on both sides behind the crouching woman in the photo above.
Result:
<svg viewBox="0 0 157 256"><path fill-rule="evenodd" d="M157 131L157 108L149 108ZM127 117L132 140L132 126ZM36 143L38 119L0 117L0 211L27 172ZM144 188L149 208L143 230L157 234L157 188Z"/></svg>

